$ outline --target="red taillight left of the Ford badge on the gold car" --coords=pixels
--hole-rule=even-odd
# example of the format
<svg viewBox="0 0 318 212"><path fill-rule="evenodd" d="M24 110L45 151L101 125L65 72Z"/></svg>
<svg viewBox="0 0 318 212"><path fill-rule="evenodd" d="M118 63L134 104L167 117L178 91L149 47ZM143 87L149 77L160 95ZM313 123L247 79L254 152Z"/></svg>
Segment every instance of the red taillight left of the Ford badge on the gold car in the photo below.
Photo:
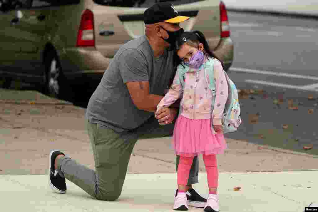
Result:
<svg viewBox="0 0 318 212"><path fill-rule="evenodd" d="M76 46L95 46L94 15L91 10L85 10L82 15Z"/></svg>

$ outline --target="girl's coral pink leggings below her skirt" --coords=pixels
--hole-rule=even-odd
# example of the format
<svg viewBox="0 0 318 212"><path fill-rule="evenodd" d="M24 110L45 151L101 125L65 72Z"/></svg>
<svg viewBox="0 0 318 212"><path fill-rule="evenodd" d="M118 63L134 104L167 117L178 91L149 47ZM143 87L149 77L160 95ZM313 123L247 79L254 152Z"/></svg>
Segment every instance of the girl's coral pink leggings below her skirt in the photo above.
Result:
<svg viewBox="0 0 318 212"><path fill-rule="evenodd" d="M177 171L177 183L178 185L186 186L189 178L189 173L194 157L180 156L178 171ZM209 188L218 188L218 165L217 157L215 154L203 155L203 161L208 178Z"/></svg>

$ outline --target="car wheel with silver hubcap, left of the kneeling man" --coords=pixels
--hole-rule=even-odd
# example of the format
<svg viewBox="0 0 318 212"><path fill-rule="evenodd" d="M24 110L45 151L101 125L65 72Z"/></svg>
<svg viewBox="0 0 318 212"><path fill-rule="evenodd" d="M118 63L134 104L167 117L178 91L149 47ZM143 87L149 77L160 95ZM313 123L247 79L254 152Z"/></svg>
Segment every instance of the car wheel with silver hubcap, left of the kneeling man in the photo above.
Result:
<svg viewBox="0 0 318 212"><path fill-rule="evenodd" d="M55 51L50 51L45 58L45 93L53 98L73 101L73 89L62 72L59 58Z"/></svg>

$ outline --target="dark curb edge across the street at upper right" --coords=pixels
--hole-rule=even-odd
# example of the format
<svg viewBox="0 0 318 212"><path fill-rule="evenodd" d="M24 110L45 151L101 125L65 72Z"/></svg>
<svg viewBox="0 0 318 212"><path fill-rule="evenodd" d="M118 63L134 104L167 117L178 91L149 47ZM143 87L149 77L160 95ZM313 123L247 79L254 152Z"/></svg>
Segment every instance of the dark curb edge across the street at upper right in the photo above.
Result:
<svg viewBox="0 0 318 212"><path fill-rule="evenodd" d="M252 14L264 14L264 15L274 15L274 16L283 16L283 17L295 17L295 18L304 18L304 19L314 19L318 20L318 14L302 14L297 12L280 12L273 10L259 10L259 9L239 9L239 8L231 8L226 7L228 11L231 12L242 12L242 13L252 13Z"/></svg>

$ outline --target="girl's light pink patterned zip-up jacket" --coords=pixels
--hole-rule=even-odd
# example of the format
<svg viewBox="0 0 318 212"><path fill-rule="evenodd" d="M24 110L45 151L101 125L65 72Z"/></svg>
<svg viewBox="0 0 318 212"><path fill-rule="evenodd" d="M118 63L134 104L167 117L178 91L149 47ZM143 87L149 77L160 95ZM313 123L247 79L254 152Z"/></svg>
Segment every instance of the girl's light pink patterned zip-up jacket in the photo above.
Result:
<svg viewBox="0 0 318 212"><path fill-rule="evenodd" d="M179 75L177 72L169 91L159 102L157 111L160 107L169 107L183 94L180 103L181 115L194 120L212 118L214 125L221 125L228 86L220 61L215 58L209 59L215 60L213 64L214 79L205 80L204 69L190 68L184 75L184 88L182 88L182 85L178 83ZM207 58L204 59L204 63L206 60ZM215 92L208 88L207 82L210 82L209 80L215 80ZM213 111L212 101L215 101Z"/></svg>

